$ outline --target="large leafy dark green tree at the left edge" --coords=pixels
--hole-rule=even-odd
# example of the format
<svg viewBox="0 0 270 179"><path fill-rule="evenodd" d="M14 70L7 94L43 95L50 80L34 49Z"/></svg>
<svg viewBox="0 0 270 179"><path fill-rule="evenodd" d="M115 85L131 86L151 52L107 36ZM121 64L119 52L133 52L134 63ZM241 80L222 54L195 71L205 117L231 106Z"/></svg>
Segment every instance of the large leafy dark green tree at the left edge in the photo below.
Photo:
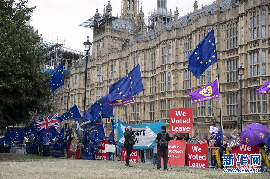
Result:
<svg viewBox="0 0 270 179"><path fill-rule="evenodd" d="M40 36L26 25L35 7L26 3L0 0L0 128L29 122L31 113L52 110L44 105L52 93L40 68Z"/></svg>

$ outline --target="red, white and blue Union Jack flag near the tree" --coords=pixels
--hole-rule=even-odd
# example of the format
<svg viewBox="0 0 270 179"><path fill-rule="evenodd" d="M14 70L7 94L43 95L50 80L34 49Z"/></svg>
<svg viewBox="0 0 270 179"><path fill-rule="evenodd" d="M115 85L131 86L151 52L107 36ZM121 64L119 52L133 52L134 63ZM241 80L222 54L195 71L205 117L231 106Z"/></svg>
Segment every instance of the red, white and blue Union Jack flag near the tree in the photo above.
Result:
<svg viewBox="0 0 270 179"><path fill-rule="evenodd" d="M58 114L55 114L54 116L45 117L43 119L36 120L36 125L38 127L38 131L44 131L49 129L51 126L54 126L55 128L59 128L59 123L57 118Z"/></svg>

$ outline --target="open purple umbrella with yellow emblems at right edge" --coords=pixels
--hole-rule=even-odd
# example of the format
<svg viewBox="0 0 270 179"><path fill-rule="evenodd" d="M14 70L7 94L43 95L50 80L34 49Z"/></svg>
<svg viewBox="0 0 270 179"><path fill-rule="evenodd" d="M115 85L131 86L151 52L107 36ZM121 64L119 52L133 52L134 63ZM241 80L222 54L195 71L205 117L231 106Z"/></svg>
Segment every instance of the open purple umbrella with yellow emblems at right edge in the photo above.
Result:
<svg viewBox="0 0 270 179"><path fill-rule="evenodd" d="M265 139L268 134L269 133L265 125L252 123L244 128L240 136L242 143L252 147L256 144L263 143L263 139Z"/></svg>

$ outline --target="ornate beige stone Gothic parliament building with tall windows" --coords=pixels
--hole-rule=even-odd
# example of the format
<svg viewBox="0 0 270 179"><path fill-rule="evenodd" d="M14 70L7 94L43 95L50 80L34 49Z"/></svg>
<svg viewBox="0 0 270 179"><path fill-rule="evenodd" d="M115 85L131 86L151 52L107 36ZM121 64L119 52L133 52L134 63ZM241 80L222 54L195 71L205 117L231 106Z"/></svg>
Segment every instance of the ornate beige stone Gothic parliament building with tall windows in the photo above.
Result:
<svg viewBox="0 0 270 179"><path fill-rule="evenodd" d="M260 95L254 89L270 80L270 1L216 0L201 8L194 1L194 11L180 16L177 7L174 13L169 12L167 0L158 0L148 22L137 0L123 0L120 17L113 16L112 9L109 1L103 14L97 9L89 19L94 34L88 57L86 109L140 63L144 91L134 96L134 103L114 107L114 118L129 124L164 120L168 127L170 108L193 108L193 131L208 134L209 126L219 128L219 99L193 104L188 95L217 78L217 63L197 79L187 69L186 58L213 27L224 134L240 130L240 65L245 69L243 128L258 122L269 129L270 95ZM71 88L69 106L76 104L83 113L85 61L79 58L69 65L71 73L64 76L64 88L67 84ZM66 90L62 100L60 111L64 113ZM103 119L103 123L109 134L111 120Z"/></svg>

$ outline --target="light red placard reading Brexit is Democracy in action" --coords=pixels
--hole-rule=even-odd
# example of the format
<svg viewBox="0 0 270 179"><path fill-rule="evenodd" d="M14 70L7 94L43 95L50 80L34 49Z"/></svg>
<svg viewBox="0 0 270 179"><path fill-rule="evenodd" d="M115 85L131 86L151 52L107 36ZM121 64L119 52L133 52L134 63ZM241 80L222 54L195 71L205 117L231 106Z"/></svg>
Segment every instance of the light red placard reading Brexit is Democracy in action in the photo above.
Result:
<svg viewBox="0 0 270 179"><path fill-rule="evenodd" d="M186 141L185 140L170 140L168 148L168 156L170 164L174 166L185 165L185 154L186 154ZM161 158L161 164L163 160Z"/></svg>

